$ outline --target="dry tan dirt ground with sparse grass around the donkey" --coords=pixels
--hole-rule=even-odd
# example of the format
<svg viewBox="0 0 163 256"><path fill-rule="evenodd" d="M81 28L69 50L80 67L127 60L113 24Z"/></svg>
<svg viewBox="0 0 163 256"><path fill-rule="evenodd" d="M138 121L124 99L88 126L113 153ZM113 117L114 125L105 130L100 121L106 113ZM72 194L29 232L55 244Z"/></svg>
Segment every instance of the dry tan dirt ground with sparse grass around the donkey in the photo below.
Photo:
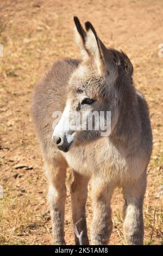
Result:
<svg viewBox="0 0 163 256"><path fill-rule="evenodd" d="M9 1L0 2L1 93L1 245L51 244L46 202L47 181L30 117L35 83L56 59L79 58L73 40L73 16L91 21L107 46L122 49L134 65L135 86L146 96L153 128L153 155L148 166L144 204L145 244L163 245L162 81L163 1ZM162 51L163 53L163 51ZM114 223L110 244L124 244L121 190L112 197ZM87 224L92 218L90 188ZM67 191L65 237L74 244L70 192Z"/></svg>

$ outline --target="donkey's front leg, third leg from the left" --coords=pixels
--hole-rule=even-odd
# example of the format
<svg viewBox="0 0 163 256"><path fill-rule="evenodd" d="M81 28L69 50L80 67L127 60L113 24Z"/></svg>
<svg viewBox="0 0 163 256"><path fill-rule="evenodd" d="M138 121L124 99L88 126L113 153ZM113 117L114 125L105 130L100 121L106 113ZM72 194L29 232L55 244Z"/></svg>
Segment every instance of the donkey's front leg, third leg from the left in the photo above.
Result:
<svg viewBox="0 0 163 256"><path fill-rule="evenodd" d="M92 179L91 244L108 245L112 231L110 199L114 188L99 182L97 179Z"/></svg>

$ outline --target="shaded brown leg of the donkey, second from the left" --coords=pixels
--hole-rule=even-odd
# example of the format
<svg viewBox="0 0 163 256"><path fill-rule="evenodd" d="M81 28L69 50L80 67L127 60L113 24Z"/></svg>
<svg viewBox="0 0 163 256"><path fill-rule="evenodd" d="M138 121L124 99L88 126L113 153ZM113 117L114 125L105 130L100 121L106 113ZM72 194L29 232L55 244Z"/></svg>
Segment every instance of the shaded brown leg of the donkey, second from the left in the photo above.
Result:
<svg viewBox="0 0 163 256"><path fill-rule="evenodd" d="M89 178L77 172L74 173L74 180L71 184L71 204L72 204L72 218L74 228L77 228L78 233L82 233L82 245L89 245L87 237L86 216L85 216L85 203L87 199L87 184ZM77 235L75 234L76 245L80 245Z"/></svg>

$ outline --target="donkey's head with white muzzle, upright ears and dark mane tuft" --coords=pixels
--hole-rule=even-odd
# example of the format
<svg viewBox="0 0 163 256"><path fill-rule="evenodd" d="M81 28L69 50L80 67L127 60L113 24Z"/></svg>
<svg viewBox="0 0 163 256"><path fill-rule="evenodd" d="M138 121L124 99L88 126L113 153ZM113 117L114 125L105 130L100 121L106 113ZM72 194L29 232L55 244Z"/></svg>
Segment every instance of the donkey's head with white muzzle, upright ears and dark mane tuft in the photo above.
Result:
<svg viewBox="0 0 163 256"><path fill-rule="evenodd" d="M132 72L126 54L107 49L90 22L85 30L77 17L74 23L83 61L68 82L66 106L53 132L54 143L65 152L114 130L118 119L115 85L122 74Z"/></svg>

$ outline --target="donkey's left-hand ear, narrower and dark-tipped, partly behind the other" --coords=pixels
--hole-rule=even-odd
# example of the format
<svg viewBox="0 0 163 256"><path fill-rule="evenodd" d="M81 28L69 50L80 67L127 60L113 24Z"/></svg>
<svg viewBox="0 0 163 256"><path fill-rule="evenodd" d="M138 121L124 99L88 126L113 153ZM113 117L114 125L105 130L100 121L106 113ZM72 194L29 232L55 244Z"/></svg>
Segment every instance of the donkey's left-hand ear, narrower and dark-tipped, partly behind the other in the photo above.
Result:
<svg viewBox="0 0 163 256"><path fill-rule="evenodd" d="M85 48L85 42L86 42L86 32L84 31L82 25L80 24L80 21L78 17L73 17L74 23L76 27L74 28L74 35L76 39L76 43L80 48L81 54L84 59L87 59L89 57L89 53Z"/></svg>

